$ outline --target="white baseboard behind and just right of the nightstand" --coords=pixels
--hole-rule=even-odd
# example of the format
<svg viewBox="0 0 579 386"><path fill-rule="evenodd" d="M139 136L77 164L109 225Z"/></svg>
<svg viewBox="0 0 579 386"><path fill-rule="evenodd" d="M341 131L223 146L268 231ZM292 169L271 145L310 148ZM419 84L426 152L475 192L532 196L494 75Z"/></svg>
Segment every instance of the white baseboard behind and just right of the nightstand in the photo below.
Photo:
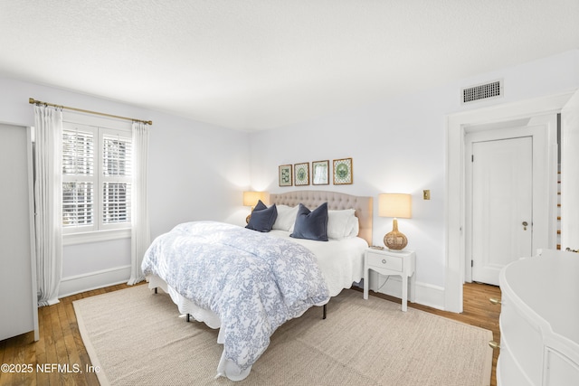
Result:
<svg viewBox="0 0 579 386"><path fill-rule="evenodd" d="M386 280L385 283L384 280ZM370 289L391 297L402 298L402 278L398 276L378 277L375 272L371 271ZM444 310L444 287L416 282L414 287L414 303Z"/></svg>

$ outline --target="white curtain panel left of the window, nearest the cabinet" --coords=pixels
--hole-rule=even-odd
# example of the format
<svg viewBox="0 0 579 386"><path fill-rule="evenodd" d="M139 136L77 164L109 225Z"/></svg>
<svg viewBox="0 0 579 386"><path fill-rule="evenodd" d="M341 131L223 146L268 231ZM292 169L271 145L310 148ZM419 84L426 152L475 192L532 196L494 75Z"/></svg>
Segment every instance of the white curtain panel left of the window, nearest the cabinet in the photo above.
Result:
<svg viewBox="0 0 579 386"><path fill-rule="evenodd" d="M38 306L50 306L62 278L62 111L34 106L34 142Z"/></svg>

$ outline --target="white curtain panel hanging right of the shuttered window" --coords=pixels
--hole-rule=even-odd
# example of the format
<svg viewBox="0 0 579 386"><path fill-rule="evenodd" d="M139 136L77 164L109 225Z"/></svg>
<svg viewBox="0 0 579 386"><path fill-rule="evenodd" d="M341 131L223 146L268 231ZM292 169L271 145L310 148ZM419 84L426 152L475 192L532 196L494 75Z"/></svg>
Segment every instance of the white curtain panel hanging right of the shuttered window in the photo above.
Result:
<svg viewBox="0 0 579 386"><path fill-rule="evenodd" d="M150 244L147 211L148 126L133 122L133 190L131 208L131 273L128 285L145 279L141 270L143 256Z"/></svg>

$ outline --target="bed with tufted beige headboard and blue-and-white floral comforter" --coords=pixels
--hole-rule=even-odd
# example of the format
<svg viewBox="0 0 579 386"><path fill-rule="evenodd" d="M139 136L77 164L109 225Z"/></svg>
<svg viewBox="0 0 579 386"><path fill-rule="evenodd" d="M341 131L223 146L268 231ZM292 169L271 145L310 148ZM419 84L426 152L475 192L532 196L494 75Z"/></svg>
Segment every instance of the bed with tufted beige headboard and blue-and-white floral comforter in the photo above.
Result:
<svg viewBox="0 0 579 386"><path fill-rule="evenodd" d="M371 197L297 191L272 193L269 201L263 212L256 207L252 220L276 211L271 231L187 222L154 240L143 259L148 287L162 288L180 313L219 328L223 353L217 376L232 381L249 375L285 321L311 306L326 306L330 297L360 281L364 250L371 244ZM327 235L334 237L298 238L299 224L294 229L291 223L294 213L304 219L308 212L311 219L322 210L327 210ZM356 225L351 217L345 220L349 213L356 216ZM346 229L332 224L346 224Z"/></svg>

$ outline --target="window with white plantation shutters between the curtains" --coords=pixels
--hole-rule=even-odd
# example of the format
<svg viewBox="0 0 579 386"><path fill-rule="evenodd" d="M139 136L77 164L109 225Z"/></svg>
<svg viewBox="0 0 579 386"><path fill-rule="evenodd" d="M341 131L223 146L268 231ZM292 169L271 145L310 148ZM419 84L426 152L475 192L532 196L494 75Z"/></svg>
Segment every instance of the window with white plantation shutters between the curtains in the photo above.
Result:
<svg viewBox="0 0 579 386"><path fill-rule="evenodd" d="M130 131L64 122L62 231L130 228Z"/></svg>

